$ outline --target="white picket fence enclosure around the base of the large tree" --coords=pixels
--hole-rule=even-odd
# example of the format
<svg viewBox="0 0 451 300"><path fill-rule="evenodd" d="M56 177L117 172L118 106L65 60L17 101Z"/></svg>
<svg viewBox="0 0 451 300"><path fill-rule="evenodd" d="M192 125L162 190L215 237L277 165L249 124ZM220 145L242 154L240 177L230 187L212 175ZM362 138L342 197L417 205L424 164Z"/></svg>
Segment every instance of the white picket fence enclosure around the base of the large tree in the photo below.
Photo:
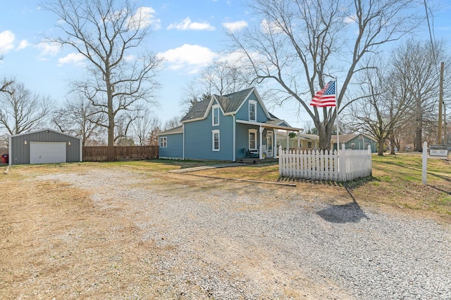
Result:
<svg viewBox="0 0 451 300"><path fill-rule="evenodd" d="M368 150L337 151L283 150L279 148L279 174L282 177L323 181L352 181L372 175L371 146Z"/></svg>

